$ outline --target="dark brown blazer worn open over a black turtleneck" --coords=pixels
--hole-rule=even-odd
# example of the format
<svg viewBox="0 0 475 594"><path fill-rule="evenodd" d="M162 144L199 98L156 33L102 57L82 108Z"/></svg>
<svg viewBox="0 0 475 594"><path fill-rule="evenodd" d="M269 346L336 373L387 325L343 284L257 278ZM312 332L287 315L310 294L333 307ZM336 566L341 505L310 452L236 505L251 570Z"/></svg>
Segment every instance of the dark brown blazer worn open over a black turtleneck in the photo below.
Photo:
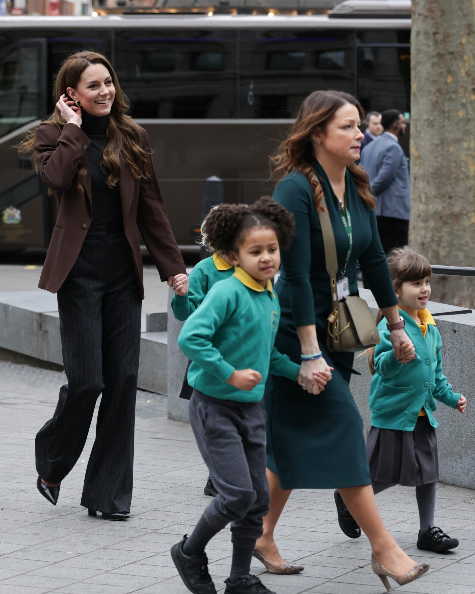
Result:
<svg viewBox="0 0 475 594"><path fill-rule="evenodd" d="M35 150L40 176L49 188L56 191L58 200L58 219L38 285L40 289L52 293L58 291L68 276L92 222L91 176L87 163L87 147L90 144L87 135L74 124L66 124L62 131L46 124L36 131ZM151 152L147 132L143 128L140 146L147 153ZM75 187L79 162L88 171L85 192L78 192ZM144 275L139 230L162 280L186 271L170 228L151 155L148 157L148 168L150 177L137 179L129 166L122 162L119 181L124 232L132 249L142 298Z"/></svg>

